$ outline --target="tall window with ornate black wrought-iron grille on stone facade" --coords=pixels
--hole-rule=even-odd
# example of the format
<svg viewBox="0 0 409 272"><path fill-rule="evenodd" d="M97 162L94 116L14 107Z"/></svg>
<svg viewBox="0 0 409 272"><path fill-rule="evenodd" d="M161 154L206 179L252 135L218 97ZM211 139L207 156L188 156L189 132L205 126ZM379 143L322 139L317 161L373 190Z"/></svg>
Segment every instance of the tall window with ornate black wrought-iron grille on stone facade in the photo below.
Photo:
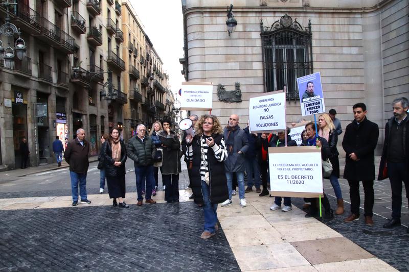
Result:
<svg viewBox="0 0 409 272"><path fill-rule="evenodd" d="M287 100L298 100L297 78L312 73L311 23L303 28L287 14L271 27L261 24L265 92L287 87Z"/></svg>

